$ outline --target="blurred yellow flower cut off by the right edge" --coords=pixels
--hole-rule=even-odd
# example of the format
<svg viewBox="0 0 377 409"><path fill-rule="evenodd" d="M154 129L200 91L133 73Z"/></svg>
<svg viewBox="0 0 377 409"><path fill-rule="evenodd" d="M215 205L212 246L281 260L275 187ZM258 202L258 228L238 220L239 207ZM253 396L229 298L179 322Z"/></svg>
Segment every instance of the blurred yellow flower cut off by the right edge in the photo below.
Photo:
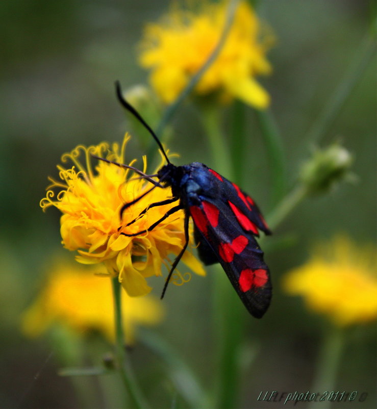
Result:
<svg viewBox="0 0 377 409"><path fill-rule="evenodd" d="M373 320L377 316L374 254L346 237L336 237L307 264L290 271L284 289L305 297L308 308L329 315L338 325Z"/></svg>

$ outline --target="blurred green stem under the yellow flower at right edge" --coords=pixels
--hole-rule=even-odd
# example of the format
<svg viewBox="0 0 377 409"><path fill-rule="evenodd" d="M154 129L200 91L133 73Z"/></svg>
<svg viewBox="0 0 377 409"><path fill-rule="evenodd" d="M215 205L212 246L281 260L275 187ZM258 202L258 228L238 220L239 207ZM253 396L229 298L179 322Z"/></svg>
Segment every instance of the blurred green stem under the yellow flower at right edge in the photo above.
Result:
<svg viewBox="0 0 377 409"><path fill-rule="evenodd" d="M335 391L335 381L343 347L344 331L342 328L336 325L326 328L319 351L318 365L312 387L314 393L320 395L324 391L329 391L329 393ZM323 402L318 402L317 405L313 405L313 408L323 407Z"/></svg>

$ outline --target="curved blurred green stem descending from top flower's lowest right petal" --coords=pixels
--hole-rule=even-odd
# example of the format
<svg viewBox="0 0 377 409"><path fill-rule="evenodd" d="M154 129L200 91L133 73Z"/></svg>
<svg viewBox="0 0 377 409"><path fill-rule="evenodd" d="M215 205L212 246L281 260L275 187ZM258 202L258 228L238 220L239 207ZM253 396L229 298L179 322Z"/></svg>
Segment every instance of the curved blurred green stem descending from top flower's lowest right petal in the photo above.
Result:
<svg viewBox="0 0 377 409"><path fill-rule="evenodd" d="M256 110L256 116L267 151L271 170L272 203L277 203L286 193L287 172L282 138L269 111Z"/></svg>

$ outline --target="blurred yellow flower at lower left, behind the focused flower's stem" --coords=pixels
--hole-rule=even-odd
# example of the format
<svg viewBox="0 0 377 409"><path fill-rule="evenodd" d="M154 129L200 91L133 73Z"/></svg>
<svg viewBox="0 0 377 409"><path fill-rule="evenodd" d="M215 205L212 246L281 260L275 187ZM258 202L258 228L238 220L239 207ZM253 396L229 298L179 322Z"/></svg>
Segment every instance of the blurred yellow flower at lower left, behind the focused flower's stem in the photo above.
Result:
<svg viewBox="0 0 377 409"><path fill-rule="evenodd" d="M59 323L83 334L101 331L114 341L114 307L111 281L95 273L104 266L80 266L65 260L55 262L46 285L22 317L22 331L29 337L43 334ZM122 317L127 343L135 338L138 324L154 325L163 316L162 303L147 295L129 297L122 293Z"/></svg>

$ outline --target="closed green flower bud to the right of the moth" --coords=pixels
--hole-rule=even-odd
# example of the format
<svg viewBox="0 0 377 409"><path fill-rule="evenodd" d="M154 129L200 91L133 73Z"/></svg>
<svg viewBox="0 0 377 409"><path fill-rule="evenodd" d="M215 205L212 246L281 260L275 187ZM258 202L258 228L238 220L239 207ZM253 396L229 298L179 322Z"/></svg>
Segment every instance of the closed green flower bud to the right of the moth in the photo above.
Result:
<svg viewBox="0 0 377 409"><path fill-rule="evenodd" d="M301 167L300 181L306 186L308 193L326 192L350 175L348 170L352 162L351 154L339 143L316 149Z"/></svg>

